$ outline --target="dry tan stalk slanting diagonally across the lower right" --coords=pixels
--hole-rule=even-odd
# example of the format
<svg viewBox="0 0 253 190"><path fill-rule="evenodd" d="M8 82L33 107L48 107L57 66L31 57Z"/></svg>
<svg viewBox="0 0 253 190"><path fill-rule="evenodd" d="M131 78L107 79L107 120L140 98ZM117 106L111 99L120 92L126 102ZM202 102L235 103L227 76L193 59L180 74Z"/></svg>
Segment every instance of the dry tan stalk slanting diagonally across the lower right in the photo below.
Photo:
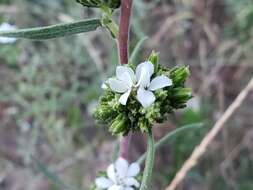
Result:
<svg viewBox="0 0 253 190"><path fill-rule="evenodd" d="M226 122L235 113L235 111L241 106L249 92L253 89L253 78L250 80L248 85L241 91L237 96L235 101L228 107L221 118L215 123L211 131L204 137L199 146L195 148L192 155L186 160L182 168L178 171L175 178L172 180L171 184L166 188L166 190L175 190L180 182L185 178L188 171L194 167L199 158L206 152L208 145L214 140L215 136L224 127Z"/></svg>

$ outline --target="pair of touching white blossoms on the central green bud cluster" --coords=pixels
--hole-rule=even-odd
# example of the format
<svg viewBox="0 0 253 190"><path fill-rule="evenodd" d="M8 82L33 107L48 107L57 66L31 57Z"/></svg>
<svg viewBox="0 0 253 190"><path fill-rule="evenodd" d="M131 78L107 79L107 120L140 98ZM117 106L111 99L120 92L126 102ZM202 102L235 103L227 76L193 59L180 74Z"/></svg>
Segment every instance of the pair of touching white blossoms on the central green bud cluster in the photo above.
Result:
<svg viewBox="0 0 253 190"><path fill-rule="evenodd" d="M132 88L138 88L137 100L146 108L155 101L152 91L172 85L172 80L164 75L150 81L153 74L154 65L149 61L139 64L136 73L128 66L118 66L116 78L110 78L108 85L113 92L123 93L119 99L122 105L126 105ZM103 88L105 88L104 85Z"/></svg>

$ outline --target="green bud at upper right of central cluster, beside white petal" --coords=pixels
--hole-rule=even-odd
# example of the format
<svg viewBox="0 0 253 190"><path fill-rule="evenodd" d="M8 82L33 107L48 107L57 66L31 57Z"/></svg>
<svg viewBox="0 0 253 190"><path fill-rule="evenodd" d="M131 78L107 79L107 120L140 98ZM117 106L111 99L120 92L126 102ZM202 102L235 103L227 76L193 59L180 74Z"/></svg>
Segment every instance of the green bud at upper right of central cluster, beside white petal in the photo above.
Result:
<svg viewBox="0 0 253 190"><path fill-rule="evenodd" d="M170 71L170 78L173 80L174 86L181 86L189 77L189 67L176 67Z"/></svg>

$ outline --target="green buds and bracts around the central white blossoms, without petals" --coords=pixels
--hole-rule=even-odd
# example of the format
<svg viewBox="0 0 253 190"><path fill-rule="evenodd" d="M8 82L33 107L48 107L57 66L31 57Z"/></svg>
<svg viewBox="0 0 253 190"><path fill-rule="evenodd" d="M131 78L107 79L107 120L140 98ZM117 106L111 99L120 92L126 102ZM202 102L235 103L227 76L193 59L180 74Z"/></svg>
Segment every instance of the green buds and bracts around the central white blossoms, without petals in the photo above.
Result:
<svg viewBox="0 0 253 190"><path fill-rule="evenodd" d="M110 88L105 89L95 111L95 117L101 123L109 124L109 131L112 134L127 135L130 131L148 132L153 124L164 122L169 113L185 107L186 102L192 97L191 89L184 86L190 74L189 68L177 66L168 69L158 65L157 60L157 54L152 53L149 58L154 65L151 79L164 75L170 78L173 84L156 90L155 102L149 107L144 108L137 100L136 88L132 89L126 105L119 102L121 94L113 92Z"/></svg>

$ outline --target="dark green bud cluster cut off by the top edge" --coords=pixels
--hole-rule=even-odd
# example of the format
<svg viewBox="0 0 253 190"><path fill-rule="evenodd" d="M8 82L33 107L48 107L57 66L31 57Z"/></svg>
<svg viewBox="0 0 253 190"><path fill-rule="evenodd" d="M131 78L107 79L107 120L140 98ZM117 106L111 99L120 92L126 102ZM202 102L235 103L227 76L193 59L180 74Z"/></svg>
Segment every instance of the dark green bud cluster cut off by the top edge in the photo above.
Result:
<svg viewBox="0 0 253 190"><path fill-rule="evenodd" d="M112 9L117 9L120 7L120 0L76 0L86 7L102 7L107 6Z"/></svg>

